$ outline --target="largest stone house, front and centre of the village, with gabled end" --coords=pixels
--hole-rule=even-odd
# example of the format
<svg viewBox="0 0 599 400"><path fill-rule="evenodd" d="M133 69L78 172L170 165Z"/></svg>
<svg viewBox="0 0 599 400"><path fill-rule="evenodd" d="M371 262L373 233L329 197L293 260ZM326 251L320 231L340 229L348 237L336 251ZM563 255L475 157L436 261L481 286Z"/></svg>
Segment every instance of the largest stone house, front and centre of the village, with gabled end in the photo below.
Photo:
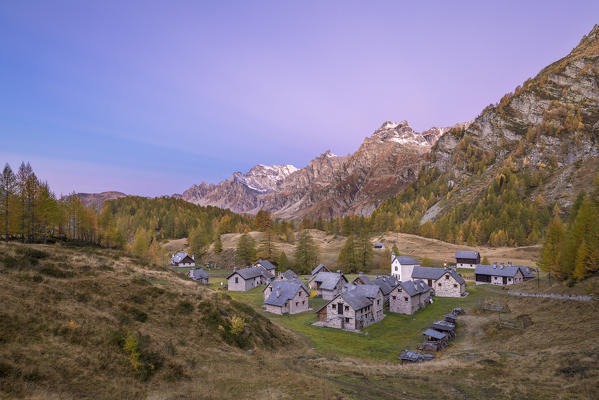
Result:
<svg viewBox="0 0 599 400"><path fill-rule="evenodd" d="M378 286L348 285L348 290L316 311L318 321L314 325L360 331L385 317L383 301Z"/></svg>

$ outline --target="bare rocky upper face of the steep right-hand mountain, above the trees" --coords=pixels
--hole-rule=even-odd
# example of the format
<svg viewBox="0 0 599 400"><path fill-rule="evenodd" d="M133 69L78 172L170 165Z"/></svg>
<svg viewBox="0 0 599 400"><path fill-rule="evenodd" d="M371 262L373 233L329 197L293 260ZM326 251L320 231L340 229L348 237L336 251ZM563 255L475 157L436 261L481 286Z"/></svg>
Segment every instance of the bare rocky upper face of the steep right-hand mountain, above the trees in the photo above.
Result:
<svg viewBox="0 0 599 400"><path fill-rule="evenodd" d="M599 26L465 129L433 147L429 168L454 187L422 222L479 195L501 168L543 176L531 197L565 209L599 171Z"/></svg>

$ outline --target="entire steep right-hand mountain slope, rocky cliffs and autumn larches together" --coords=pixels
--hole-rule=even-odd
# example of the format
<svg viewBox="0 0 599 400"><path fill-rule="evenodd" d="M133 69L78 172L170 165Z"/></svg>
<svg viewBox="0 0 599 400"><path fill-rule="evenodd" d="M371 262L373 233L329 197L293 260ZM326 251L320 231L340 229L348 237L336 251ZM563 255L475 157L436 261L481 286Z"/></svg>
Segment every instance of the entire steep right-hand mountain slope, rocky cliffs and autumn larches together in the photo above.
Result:
<svg viewBox="0 0 599 400"><path fill-rule="evenodd" d="M465 129L433 146L410 189L382 204L409 231L449 241L533 243L599 171L599 26ZM416 199L426 199L416 204ZM410 204L412 207L405 207ZM429 222L433 226L429 226ZM422 225L418 227L418 225ZM501 240L494 242L494 238Z"/></svg>

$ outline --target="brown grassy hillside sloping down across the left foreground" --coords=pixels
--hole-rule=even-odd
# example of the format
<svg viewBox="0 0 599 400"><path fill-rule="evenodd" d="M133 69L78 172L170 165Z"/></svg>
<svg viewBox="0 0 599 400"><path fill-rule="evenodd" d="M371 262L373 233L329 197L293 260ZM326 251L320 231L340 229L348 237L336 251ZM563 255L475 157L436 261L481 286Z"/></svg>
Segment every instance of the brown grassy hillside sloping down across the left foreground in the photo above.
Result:
<svg viewBox="0 0 599 400"><path fill-rule="evenodd" d="M2 243L0 272L2 397L331 393L283 368L307 350L295 335L225 293L122 253Z"/></svg>

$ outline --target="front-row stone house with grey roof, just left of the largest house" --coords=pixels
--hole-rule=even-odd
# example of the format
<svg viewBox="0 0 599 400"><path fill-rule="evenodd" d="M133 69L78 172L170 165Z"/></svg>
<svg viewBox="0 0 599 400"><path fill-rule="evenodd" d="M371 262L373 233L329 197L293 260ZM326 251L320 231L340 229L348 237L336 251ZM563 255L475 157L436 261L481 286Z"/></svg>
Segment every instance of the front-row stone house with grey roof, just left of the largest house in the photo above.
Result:
<svg viewBox="0 0 599 400"><path fill-rule="evenodd" d="M308 311L309 298L301 280L275 280L264 288L264 309L273 314L297 314Z"/></svg>

